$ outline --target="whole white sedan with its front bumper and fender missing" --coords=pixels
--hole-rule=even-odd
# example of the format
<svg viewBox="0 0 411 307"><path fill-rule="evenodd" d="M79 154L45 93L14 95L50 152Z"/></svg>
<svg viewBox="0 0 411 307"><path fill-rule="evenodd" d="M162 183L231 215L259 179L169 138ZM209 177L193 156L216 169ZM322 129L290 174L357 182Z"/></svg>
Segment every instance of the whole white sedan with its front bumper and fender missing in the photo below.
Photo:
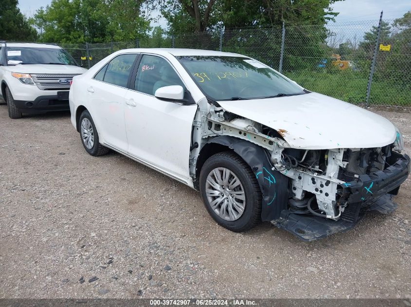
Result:
<svg viewBox="0 0 411 307"><path fill-rule="evenodd" d="M348 230L395 210L410 171L387 119L240 54L121 50L73 78L70 109L90 155L113 149L199 190L233 231Z"/></svg>

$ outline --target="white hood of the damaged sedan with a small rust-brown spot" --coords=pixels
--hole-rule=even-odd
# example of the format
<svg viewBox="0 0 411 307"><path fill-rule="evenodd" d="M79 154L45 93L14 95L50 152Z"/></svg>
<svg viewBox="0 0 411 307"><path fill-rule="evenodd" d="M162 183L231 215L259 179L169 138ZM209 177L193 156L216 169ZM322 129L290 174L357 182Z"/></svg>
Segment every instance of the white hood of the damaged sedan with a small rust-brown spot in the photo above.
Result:
<svg viewBox="0 0 411 307"><path fill-rule="evenodd" d="M218 103L228 112L277 130L293 148L382 147L396 137L388 119L318 93Z"/></svg>

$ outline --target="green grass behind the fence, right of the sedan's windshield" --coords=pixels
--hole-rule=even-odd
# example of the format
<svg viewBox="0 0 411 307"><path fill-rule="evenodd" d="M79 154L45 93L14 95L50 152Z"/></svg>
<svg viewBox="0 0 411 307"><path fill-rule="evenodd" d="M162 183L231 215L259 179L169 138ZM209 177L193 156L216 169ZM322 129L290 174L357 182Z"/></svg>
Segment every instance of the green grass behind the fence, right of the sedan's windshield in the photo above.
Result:
<svg viewBox="0 0 411 307"><path fill-rule="evenodd" d="M307 90L335 97L351 103L364 103L368 76L355 71L298 71L284 72ZM410 86L401 86L401 81L373 79L370 105L411 106Z"/></svg>

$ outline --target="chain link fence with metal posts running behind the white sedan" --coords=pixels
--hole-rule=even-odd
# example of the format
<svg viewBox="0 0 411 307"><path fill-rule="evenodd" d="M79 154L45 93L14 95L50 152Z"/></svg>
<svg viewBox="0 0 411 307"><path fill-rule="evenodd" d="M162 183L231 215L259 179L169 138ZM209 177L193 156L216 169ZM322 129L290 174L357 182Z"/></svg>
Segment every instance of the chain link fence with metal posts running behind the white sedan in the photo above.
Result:
<svg viewBox="0 0 411 307"><path fill-rule="evenodd" d="M117 50L136 47L240 53L310 91L354 104L411 107L411 26L394 20L225 28L132 42L60 46L83 67Z"/></svg>

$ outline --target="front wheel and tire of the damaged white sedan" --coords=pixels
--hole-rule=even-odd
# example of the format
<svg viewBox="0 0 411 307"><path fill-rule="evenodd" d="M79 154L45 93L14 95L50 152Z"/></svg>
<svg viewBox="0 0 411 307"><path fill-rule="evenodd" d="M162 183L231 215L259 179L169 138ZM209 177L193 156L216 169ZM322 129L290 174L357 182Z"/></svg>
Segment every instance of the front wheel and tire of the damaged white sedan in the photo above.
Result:
<svg viewBox="0 0 411 307"><path fill-rule="evenodd" d="M229 170L231 174L229 174L228 171L225 171L224 169ZM229 182L229 189L223 189L223 193L219 194L219 196L217 196L217 191L219 190L215 189L214 183L217 183L217 185L220 187L220 190L224 186L218 184L217 180L214 180L214 183L212 185L210 184L212 180L208 180L210 178L217 178L218 174L214 173L214 171L221 175L222 179L224 178L224 174L228 174L228 180L226 180L226 182ZM236 181L234 181L234 176L240 181L240 184L236 187L234 187L236 184ZM262 196L260 187L254 173L250 169L250 166L238 155L236 155L232 151L225 151L211 156L201 168L199 179L200 192L204 205L210 215L219 225L235 232L241 232L249 230L261 222ZM232 185L230 185L230 182L232 183ZM224 183L224 180L220 183ZM244 194L241 194L241 191L243 191ZM230 194L232 196L230 196ZM239 199L239 197L244 198L244 202L242 199ZM225 210L223 210L225 212L223 214L221 214L223 203L222 201L217 201L217 199L220 198L227 199L227 201L224 200L227 205L225 206ZM231 206L234 210L232 210L233 214L230 215L230 210L228 209L230 208L230 201L231 203L233 203L232 200L235 200L235 203L237 205ZM213 203L214 208L212 205ZM216 206L216 203L219 203L220 205ZM241 207L238 205L241 205L243 207L244 210L242 213L240 212L241 210L237 210L237 208ZM218 211L219 213L217 213L216 211ZM237 213L236 216L235 213Z"/></svg>

